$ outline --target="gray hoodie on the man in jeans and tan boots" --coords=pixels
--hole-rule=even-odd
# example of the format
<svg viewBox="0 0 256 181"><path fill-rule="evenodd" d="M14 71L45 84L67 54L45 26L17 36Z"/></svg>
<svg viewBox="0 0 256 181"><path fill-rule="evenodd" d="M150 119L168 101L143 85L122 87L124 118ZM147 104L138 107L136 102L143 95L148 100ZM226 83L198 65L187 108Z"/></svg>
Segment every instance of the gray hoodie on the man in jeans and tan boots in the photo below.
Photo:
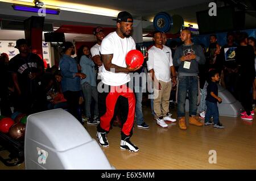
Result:
<svg viewBox="0 0 256 181"><path fill-rule="evenodd" d="M186 69L183 67L184 62L182 62L180 58L189 52L195 53L196 59L191 60L190 68ZM193 43L190 45L180 45L175 50L173 64L174 66L179 66L177 70L179 76L196 76L199 73L198 64L205 64L203 48L201 45L194 45Z"/></svg>

